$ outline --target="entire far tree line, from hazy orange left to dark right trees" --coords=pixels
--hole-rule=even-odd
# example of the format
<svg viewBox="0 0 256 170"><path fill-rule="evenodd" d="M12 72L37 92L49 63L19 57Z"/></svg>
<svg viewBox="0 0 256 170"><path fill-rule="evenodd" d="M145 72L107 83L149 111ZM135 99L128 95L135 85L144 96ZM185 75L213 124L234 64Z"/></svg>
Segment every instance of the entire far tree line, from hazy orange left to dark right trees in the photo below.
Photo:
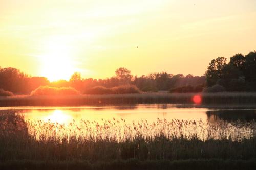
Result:
<svg viewBox="0 0 256 170"><path fill-rule="evenodd" d="M130 70L121 67L114 76L106 79L82 78L79 72L75 72L69 81L50 82L46 77L31 77L16 68L0 67L0 89L14 94L30 94L40 86L73 87L83 93L96 86L113 88L127 84L137 86L141 91L256 91L256 51L245 56L236 54L228 63L224 57L213 59L203 76L167 72L134 76Z"/></svg>

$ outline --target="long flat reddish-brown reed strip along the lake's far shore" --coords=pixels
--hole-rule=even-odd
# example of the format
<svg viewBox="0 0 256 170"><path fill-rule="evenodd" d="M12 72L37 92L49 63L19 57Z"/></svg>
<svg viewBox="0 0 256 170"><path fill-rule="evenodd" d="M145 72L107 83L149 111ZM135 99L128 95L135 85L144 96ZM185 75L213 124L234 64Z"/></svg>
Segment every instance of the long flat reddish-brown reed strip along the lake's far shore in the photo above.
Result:
<svg viewBox="0 0 256 170"><path fill-rule="evenodd" d="M200 95L201 104L256 104L256 93L140 93L67 96L0 97L0 106L84 106L130 104L193 104L193 96Z"/></svg>

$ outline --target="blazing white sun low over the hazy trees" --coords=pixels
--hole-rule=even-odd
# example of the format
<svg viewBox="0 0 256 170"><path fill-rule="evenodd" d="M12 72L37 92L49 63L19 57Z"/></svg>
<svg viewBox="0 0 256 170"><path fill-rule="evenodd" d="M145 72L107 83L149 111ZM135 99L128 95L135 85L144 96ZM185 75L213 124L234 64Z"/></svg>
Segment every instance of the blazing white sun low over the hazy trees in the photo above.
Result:
<svg viewBox="0 0 256 170"><path fill-rule="evenodd" d="M65 41L50 40L45 53L39 55L41 64L41 75L49 81L69 80L76 71L72 60L72 50Z"/></svg>

